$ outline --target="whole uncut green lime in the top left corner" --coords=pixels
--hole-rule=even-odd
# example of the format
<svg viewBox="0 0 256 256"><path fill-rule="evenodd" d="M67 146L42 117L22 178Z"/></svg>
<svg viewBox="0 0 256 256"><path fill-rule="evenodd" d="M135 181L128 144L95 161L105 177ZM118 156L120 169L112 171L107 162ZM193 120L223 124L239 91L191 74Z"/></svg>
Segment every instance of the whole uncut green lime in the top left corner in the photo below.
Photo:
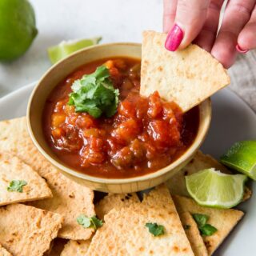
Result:
<svg viewBox="0 0 256 256"><path fill-rule="evenodd" d="M0 61L20 57L37 34L34 9L30 2L0 0Z"/></svg>

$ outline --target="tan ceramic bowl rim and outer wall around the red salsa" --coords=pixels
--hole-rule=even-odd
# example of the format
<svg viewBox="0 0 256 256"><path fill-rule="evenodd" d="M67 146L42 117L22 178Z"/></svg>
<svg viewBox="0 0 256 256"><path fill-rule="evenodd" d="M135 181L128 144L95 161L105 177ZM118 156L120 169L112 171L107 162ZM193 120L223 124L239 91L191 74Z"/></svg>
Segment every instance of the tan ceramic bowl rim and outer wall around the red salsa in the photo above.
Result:
<svg viewBox="0 0 256 256"><path fill-rule="evenodd" d="M27 123L35 146L54 166L56 166L62 174L75 180L76 182L90 187L93 190L99 190L110 193L130 193L138 190L146 190L150 187L157 186L162 182L166 182L172 175L181 170L193 158L199 146L201 146L206 133L210 126L211 119L211 103L210 99L199 105L200 122L198 135L193 145L186 150L182 157L178 158L169 166L155 171L151 174L138 176L134 178L97 178L90 175L82 174L69 166L62 163L52 152L50 146L46 143L44 134L42 133L42 110L46 102L46 98L59 82L66 76L88 62L93 62L102 58L111 57L130 57L141 58L141 45L137 43L110 43L99 46L92 46L85 50L80 50L70 55L61 62L50 68L43 75L38 85L34 88L27 107Z"/></svg>

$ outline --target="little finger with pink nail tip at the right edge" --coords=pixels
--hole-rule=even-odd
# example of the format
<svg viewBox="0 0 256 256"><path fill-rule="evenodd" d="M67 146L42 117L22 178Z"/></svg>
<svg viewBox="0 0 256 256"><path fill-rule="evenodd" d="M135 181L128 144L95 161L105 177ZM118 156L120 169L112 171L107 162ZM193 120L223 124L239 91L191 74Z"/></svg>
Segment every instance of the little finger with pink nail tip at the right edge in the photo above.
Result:
<svg viewBox="0 0 256 256"><path fill-rule="evenodd" d="M256 48L256 6L254 6L249 22L238 35L238 47L242 53Z"/></svg>

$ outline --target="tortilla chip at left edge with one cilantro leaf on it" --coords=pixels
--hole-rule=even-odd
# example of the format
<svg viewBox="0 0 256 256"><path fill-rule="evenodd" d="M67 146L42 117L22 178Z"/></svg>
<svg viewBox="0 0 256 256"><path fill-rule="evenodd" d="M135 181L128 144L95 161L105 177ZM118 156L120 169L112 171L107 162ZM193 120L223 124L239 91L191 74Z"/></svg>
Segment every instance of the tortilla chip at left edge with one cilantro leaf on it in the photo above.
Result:
<svg viewBox="0 0 256 256"><path fill-rule="evenodd" d="M13 180L24 180L22 193L7 190ZM52 194L46 181L30 166L13 154L0 153L0 206L14 202L26 202L43 198L51 198Z"/></svg>

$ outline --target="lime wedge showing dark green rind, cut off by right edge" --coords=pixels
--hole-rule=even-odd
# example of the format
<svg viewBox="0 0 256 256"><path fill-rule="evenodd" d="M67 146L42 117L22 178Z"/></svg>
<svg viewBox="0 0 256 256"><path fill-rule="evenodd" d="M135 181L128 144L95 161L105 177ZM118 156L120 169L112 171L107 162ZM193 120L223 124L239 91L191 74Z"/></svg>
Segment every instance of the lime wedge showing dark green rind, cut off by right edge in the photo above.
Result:
<svg viewBox="0 0 256 256"><path fill-rule="evenodd" d="M234 143L221 157L222 164L256 180L256 141Z"/></svg>

